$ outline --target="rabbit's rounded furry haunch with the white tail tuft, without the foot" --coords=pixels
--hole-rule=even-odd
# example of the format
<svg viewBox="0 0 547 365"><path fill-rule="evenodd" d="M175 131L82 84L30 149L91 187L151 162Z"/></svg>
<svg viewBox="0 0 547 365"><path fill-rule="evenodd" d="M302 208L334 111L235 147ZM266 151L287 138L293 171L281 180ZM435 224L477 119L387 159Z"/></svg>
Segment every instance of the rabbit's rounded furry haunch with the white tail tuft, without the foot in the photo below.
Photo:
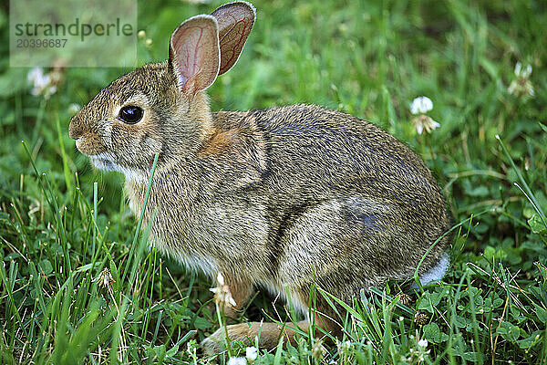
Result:
<svg viewBox="0 0 547 365"><path fill-rule="evenodd" d="M410 218L405 209L386 200L349 196L316 203L284 230L278 280L289 287L315 282L345 301L388 279L407 280L434 241L426 232L432 231L431 224ZM449 259L443 246L426 255L419 272L422 280L430 282L446 272Z"/></svg>

